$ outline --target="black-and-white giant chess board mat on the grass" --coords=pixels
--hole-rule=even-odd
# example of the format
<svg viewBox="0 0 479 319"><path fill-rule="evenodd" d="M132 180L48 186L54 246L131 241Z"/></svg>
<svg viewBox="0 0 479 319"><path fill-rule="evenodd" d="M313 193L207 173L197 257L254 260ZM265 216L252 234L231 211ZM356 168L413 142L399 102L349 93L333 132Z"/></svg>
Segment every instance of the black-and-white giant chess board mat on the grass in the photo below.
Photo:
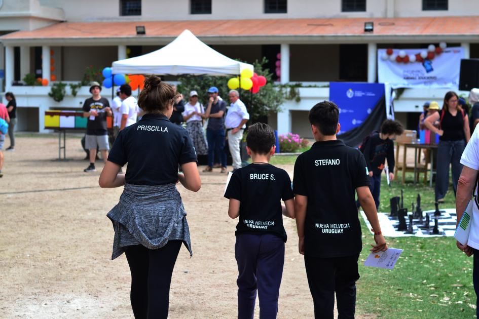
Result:
<svg viewBox="0 0 479 319"><path fill-rule="evenodd" d="M439 234L432 234L432 229L434 228L434 211L435 210L424 211L422 223L419 222L419 219L413 219L412 233L397 230L397 226L399 225L397 217L390 217L389 213L378 213L381 232L385 237L453 237L456 232L456 209L447 208L439 210L441 212L437 220ZM412 212L408 212L408 215L410 214L412 214ZM429 229L424 227L426 224L426 214L429 214ZM371 224L367 221L363 211L361 211L361 216L367 225L367 229L371 229ZM409 226L409 216L405 216L404 218L406 219L406 226Z"/></svg>

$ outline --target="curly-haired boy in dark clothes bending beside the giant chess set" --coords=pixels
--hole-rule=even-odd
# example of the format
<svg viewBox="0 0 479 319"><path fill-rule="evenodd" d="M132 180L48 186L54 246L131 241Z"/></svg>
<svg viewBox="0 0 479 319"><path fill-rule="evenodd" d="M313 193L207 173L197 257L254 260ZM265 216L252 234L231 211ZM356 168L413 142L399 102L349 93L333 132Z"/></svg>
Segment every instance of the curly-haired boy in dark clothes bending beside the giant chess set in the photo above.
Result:
<svg viewBox="0 0 479 319"><path fill-rule="evenodd" d="M384 169L384 162L388 160L389 180L394 179L394 143L392 140L396 135L404 131L399 122L386 119L381 125L380 133L374 133L364 145L364 159L367 170L371 177L371 194L373 194L376 210L379 209L379 193L381 191L381 173ZM359 201L356 202L359 207Z"/></svg>

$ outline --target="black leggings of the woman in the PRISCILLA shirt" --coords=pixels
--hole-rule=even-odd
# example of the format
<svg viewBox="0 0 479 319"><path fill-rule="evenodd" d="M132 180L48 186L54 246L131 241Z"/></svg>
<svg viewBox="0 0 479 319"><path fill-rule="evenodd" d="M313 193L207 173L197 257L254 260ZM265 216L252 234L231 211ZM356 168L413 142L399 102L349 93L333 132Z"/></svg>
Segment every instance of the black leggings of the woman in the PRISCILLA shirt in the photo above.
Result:
<svg viewBox="0 0 479 319"><path fill-rule="evenodd" d="M168 317L171 275L181 243L170 241L155 250L134 245L125 250L131 271L131 307L136 319Z"/></svg>

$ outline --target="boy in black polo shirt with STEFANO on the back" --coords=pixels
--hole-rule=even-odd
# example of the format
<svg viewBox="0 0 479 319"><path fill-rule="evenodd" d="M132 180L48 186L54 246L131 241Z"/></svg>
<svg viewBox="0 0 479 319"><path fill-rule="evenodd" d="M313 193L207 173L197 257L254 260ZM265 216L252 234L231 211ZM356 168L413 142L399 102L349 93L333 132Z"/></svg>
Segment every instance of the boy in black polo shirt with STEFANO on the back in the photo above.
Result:
<svg viewBox="0 0 479 319"><path fill-rule="evenodd" d="M336 139L339 109L324 101L309 112L316 142L294 164L293 193L299 251L303 254L316 318L354 318L357 260L362 248L355 192L375 233L373 252L385 251L364 156Z"/></svg>

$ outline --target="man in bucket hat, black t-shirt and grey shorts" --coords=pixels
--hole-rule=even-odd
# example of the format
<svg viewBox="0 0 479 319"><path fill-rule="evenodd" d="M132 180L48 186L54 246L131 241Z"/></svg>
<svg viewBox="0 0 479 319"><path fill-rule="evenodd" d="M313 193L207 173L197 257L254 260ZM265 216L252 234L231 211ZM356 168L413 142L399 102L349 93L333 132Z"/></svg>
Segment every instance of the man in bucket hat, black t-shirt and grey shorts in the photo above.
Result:
<svg viewBox="0 0 479 319"><path fill-rule="evenodd" d="M108 150L108 130L106 128L106 116L112 116L112 109L108 100L101 97L101 86L98 82L92 82L90 86L91 98L83 103L83 116L88 117L87 135L85 137L85 147L90 151L90 165L83 170L84 172L95 171L96 148L101 152L103 161L106 163Z"/></svg>

